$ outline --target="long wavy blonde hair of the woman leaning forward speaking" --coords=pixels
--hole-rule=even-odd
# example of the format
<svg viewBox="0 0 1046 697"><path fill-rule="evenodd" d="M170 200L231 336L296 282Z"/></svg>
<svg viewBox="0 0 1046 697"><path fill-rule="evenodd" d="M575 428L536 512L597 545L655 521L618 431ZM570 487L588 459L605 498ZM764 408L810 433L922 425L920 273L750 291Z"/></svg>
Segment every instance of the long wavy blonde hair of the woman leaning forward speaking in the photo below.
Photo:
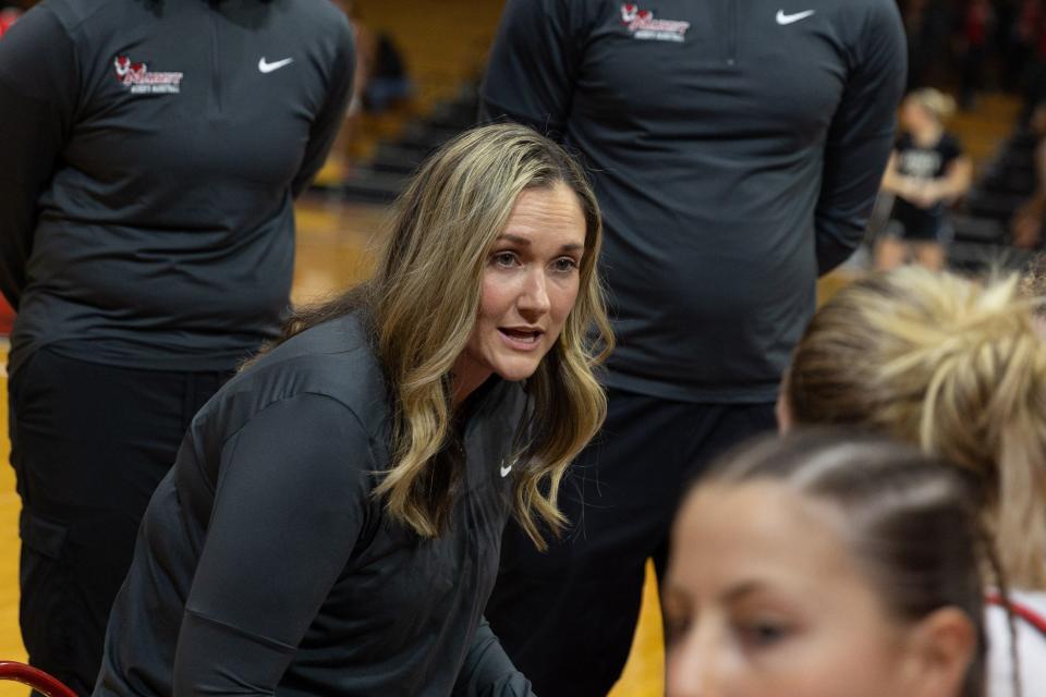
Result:
<svg viewBox="0 0 1046 697"><path fill-rule="evenodd" d="M393 406L392 464L375 494L422 537L437 537L453 505L451 370L476 323L487 257L523 191L560 185L574 193L585 219L580 290L559 340L526 380L531 409L516 443L513 496L515 518L544 549L538 518L561 529L559 484L606 416L593 368L613 345L597 271L599 207L560 146L515 124L475 129L446 144L400 196L373 278L284 328L285 339L366 311Z"/></svg>

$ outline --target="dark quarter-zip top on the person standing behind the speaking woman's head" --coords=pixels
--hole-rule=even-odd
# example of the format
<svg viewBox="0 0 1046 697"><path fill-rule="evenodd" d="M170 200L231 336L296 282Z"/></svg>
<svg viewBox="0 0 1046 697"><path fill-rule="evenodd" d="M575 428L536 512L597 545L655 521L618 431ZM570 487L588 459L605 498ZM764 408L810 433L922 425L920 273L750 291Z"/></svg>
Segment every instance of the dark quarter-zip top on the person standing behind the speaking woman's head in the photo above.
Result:
<svg viewBox="0 0 1046 697"><path fill-rule="evenodd" d="M584 158L611 387L773 401L815 281L860 243L905 72L895 0L509 0L487 115Z"/></svg>

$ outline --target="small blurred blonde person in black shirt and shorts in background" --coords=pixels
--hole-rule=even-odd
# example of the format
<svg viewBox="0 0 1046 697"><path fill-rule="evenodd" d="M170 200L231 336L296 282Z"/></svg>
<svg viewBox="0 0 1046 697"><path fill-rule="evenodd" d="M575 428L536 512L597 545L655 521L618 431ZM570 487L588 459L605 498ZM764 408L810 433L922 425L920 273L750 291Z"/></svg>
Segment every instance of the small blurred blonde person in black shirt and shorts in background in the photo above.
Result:
<svg viewBox="0 0 1046 697"><path fill-rule="evenodd" d="M887 234L876 246L876 267L891 269L914 255L932 269L945 265L951 230L945 206L970 188L973 164L962 145L945 132L956 102L936 89L917 89L901 107L900 139L883 176L883 191L893 194Z"/></svg>

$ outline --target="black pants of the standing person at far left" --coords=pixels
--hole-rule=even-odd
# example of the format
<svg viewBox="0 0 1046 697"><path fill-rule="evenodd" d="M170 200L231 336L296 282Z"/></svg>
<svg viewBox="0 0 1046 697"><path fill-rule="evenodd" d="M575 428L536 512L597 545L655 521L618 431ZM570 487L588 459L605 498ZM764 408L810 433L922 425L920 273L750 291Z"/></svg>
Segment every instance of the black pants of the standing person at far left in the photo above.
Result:
<svg viewBox="0 0 1046 697"><path fill-rule="evenodd" d="M37 351L9 384L29 662L94 688L106 623L153 490L230 372L139 370Z"/></svg>

